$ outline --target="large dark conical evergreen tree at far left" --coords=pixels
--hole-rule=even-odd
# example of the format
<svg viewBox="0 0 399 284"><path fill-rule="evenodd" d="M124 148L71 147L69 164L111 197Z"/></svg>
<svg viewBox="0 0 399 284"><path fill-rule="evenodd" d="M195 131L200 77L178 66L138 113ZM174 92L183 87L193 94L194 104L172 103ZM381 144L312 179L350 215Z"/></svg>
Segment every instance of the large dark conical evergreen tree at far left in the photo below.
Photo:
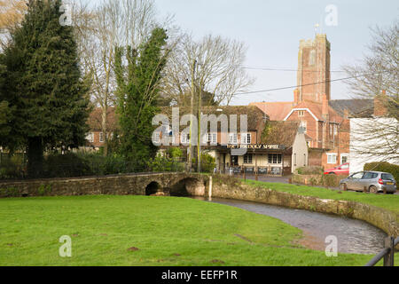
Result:
<svg viewBox="0 0 399 284"><path fill-rule="evenodd" d="M11 140L27 148L28 174L38 177L43 152L84 142L89 99L72 27L61 26L60 0L30 0L4 51L3 100L12 109ZM1 101L2 99L0 99Z"/></svg>

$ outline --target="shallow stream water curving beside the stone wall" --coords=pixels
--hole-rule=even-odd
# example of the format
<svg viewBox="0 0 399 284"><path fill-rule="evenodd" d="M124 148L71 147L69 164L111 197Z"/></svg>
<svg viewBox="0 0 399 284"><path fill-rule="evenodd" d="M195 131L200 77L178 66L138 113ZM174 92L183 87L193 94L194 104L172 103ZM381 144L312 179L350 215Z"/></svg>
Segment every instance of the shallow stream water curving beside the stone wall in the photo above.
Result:
<svg viewBox="0 0 399 284"><path fill-rule="evenodd" d="M204 199L202 199L204 200ZM246 209L254 213L275 217L303 231L301 245L325 250L327 236L338 240L339 253L378 254L384 246L387 234L364 221L347 217L310 212L301 209L286 209L250 201L235 201L213 198L212 202Z"/></svg>

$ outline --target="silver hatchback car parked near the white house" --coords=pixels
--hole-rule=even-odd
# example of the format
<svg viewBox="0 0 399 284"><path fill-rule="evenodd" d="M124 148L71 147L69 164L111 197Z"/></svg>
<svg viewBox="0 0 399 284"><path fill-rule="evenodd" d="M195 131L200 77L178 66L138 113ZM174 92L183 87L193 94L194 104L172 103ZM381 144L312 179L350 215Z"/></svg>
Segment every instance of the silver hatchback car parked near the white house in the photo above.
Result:
<svg viewBox="0 0 399 284"><path fill-rule="evenodd" d="M356 172L340 181L341 190L354 190L363 192L364 188L369 193L396 193L396 181L394 176L387 172L362 171Z"/></svg>

